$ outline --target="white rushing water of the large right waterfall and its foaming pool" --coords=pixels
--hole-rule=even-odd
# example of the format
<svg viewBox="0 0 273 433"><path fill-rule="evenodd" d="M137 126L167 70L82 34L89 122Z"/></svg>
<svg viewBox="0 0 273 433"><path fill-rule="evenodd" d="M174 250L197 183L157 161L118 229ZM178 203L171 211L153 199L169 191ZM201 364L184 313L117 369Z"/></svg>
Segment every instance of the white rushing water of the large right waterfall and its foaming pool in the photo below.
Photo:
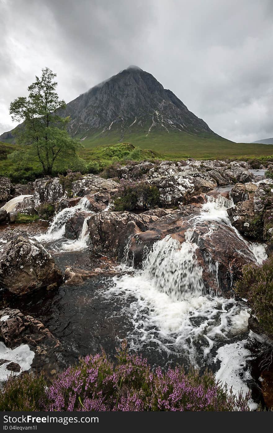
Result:
<svg viewBox="0 0 273 433"><path fill-rule="evenodd" d="M243 239L231 225L226 212L227 208L234 206L233 201L222 196L207 198L201 214L193 218L193 225L200 220L219 221ZM153 350L156 347L156 350L165 351L170 356L172 353L183 353L197 367L200 366L201 351L203 365L219 359L222 369L217 377L227 381L229 387L234 386L236 392L240 388L247 392L245 380L248 373L241 375L241 369L236 369L234 362L232 375L223 373L224 364L232 363L229 358L235 350L231 346L234 343L229 343L229 339L235 336L240 339L241 335L245 338L247 333L247 306L235 299L217 297L213 292L204 294L202 268L195 255L198 246L191 241L191 235L192 229L188 229L182 244L170 236L157 241L143 262L143 269L133 271L128 267L127 274L114 277L113 286L105 294L124 300L122 314L131 316L133 323L133 331L128 333L132 348L141 351L143 347L152 347ZM263 245L243 241L253 252L257 263L266 259ZM217 263L210 263L210 266L217 280ZM128 299L130 307L126 302ZM244 342L240 345L241 357L246 359L248 352L244 349Z"/></svg>

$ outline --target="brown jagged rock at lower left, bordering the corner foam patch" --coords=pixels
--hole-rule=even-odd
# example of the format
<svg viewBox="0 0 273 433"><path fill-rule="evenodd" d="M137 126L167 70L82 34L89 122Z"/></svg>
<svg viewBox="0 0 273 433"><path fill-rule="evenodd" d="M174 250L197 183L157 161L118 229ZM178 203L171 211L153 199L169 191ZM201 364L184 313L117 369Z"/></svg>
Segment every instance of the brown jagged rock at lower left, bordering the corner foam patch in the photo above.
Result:
<svg viewBox="0 0 273 433"><path fill-rule="evenodd" d="M35 352L32 368L37 372L44 372L49 378L52 377L53 370L58 372L64 367L60 341L45 328L43 323L32 316L25 316L20 310L12 308L0 310L0 338L12 349L27 344ZM16 363L11 364L13 364L12 368L18 369L14 365Z"/></svg>

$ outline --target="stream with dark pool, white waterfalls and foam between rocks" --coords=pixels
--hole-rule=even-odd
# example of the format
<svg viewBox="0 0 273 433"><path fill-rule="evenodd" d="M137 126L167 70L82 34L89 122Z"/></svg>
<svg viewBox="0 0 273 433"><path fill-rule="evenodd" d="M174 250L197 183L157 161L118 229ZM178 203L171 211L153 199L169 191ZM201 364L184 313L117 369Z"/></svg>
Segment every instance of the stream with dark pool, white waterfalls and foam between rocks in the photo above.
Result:
<svg viewBox="0 0 273 433"><path fill-rule="evenodd" d="M220 194L230 187L216 190ZM200 215L193 216L193 225L194 219L216 220L243 239L226 212L232 200L222 195L207 198ZM75 207L59 212L48 229L39 222L20 225L54 255L62 270L71 265L92 267L88 217L79 239L64 238L66 221L79 210L89 212L87 201L83 198ZM41 320L63 344L67 365L101 348L113 357L115 347L127 339L129 348L143 353L153 366L209 367L236 392L241 388L248 392L253 382L248 363L248 308L244 301L204 291L202 268L195 257L197 245L187 232L182 244L169 236L157 241L140 270L125 255L114 277L98 275L75 287L63 284L42 296L36 292L22 299L10 294L4 306ZM244 242L257 263L266 259L263 245ZM217 279L217 264L211 265ZM250 406L257 405L250 401Z"/></svg>

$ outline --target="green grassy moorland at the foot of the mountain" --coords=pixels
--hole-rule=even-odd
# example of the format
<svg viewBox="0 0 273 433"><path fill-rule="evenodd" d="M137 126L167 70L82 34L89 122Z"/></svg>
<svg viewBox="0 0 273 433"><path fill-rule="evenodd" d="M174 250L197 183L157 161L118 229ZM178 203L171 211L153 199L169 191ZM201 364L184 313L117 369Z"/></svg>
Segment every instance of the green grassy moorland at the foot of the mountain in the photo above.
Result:
<svg viewBox="0 0 273 433"><path fill-rule="evenodd" d="M115 134L115 131L113 131ZM184 137L184 141L181 141ZM117 137L116 137L117 138ZM233 143L221 137L171 131L169 134L158 131L149 136L130 134L131 142L118 143L114 136L108 134L100 139L83 140L83 147L79 151L80 167L56 166L54 176L66 174L67 169L81 171L83 174L102 172L111 164L117 162L126 164L127 161L143 160L180 160L190 157L196 159L258 159L258 162L272 160L273 146L254 143ZM110 145L109 145L110 143ZM113 144L114 143L114 144ZM98 145L100 144L100 145ZM146 146L146 147L145 147ZM43 176L38 164L29 164L24 169L16 166L8 155L21 146L0 142L0 176L8 176L13 184L27 183Z"/></svg>

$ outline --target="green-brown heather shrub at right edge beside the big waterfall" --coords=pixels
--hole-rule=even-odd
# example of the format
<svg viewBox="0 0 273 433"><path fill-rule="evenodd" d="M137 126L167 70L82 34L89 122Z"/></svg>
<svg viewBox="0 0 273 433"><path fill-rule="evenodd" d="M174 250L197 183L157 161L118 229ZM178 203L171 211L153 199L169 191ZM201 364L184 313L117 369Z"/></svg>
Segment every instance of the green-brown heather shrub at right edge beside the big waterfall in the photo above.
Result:
<svg viewBox="0 0 273 433"><path fill-rule="evenodd" d="M236 293L248 298L252 313L263 332L273 336L273 255L262 265L244 265L242 278L235 286Z"/></svg>

